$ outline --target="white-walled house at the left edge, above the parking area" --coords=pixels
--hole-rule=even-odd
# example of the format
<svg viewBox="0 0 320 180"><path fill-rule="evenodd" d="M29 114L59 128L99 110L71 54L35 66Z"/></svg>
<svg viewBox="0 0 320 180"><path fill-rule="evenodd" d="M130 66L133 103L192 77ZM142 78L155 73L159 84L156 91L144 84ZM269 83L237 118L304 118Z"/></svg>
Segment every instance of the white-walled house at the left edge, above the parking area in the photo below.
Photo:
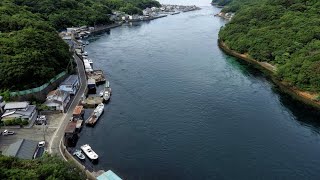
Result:
<svg viewBox="0 0 320 180"><path fill-rule="evenodd" d="M3 109L2 121L20 118L30 122L35 120L38 115L36 106L30 105L29 102L8 102Z"/></svg>

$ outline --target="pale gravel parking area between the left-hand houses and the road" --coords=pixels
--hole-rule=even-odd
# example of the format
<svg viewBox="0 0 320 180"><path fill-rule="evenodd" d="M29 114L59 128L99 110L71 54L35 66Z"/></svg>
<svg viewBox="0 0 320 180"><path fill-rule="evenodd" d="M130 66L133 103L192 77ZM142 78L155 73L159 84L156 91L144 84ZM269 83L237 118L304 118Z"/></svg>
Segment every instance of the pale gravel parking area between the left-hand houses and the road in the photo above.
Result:
<svg viewBox="0 0 320 180"><path fill-rule="evenodd" d="M43 141L45 139L46 146L50 142L54 132L57 130L58 125L63 116L62 113L50 114L47 116L47 125L33 125L31 128L11 128L1 127L0 131L5 129L14 131L14 135L3 136L0 135L0 151L4 151L12 143L15 143L19 139L29 139L34 141Z"/></svg>

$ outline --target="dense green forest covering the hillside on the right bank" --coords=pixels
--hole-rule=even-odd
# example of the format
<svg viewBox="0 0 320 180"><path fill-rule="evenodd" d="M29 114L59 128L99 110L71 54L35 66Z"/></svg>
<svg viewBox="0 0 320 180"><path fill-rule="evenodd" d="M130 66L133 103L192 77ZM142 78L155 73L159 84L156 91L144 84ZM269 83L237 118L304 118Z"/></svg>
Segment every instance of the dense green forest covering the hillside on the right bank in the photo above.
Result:
<svg viewBox="0 0 320 180"><path fill-rule="evenodd" d="M236 12L219 37L231 49L277 67L277 76L320 90L320 1L234 0Z"/></svg>

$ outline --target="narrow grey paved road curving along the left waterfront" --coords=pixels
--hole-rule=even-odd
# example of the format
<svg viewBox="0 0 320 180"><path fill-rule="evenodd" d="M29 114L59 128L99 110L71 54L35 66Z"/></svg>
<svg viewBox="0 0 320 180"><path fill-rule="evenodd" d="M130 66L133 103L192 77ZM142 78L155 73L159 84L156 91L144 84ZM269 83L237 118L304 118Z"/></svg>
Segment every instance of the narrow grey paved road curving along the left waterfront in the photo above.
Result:
<svg viewBox="0 0 320 180"><path fill-rule="evenodd" d="M66 113L64 113L63 117L61 118L61 122L59 124L58 129L56 130L55 134L53 135L51 141L49 142L49 152L52 154L57 154L59 156L61 155L60 152L60 141L64 135L64 130L69 122L69 120L72 117L72 112L74 110L74 108L78 105L81 96L84 94L86 88L87 88L87 79L86 79L86 73L84 70L84 66L83 63L81 61L81 59L77 56L74 55L75 57L75 61L77 63L77 69L78 69L78 74L80 77L80 89L77 92L77 94L75 95L75 97L73 98L73 101L71 102L69 109L66 111Z"/></svg>

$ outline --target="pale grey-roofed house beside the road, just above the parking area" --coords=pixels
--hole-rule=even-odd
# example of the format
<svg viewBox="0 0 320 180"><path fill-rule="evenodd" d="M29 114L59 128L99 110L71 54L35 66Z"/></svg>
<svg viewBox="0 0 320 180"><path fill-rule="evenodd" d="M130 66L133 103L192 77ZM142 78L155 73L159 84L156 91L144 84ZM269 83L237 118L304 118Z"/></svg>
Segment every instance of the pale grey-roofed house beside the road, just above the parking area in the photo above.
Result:
<svg viewBox="0 0 320 180"><path fill-rule="evenodd" d="M52 110L64 111L70 101L70 94L59 89L49 92L44 105Z"/></svg>

